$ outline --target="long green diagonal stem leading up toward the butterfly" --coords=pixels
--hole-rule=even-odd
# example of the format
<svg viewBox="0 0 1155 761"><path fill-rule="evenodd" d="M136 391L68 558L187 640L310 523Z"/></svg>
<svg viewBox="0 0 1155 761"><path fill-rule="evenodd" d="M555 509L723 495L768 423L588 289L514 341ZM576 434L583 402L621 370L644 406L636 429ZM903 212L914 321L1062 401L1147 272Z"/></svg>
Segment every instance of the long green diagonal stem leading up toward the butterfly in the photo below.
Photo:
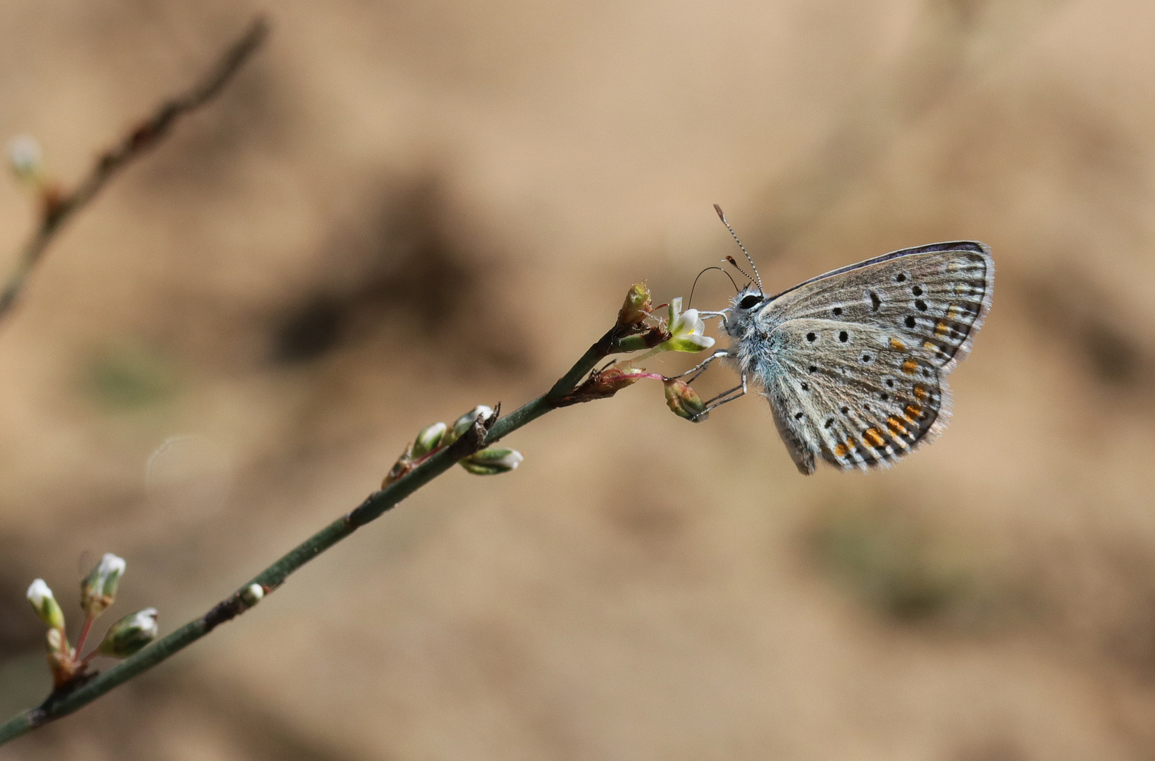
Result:
<svg viewBox="0 0 1155 761"><path fill-rule="evenodd" d="M508 435L527 423L557 409L562 397L576 388L598 361L614 352L617 338L620 334L620 328L613 328L606 333L596 344L589 348L589 351L578 360L569 372L553 385L553 388L543 396L538 396L528 404L498 419L485 432L484 438L477 437L471 446L464 448L457 446L446 447L413 468L413 470L398 480L389 484L389 486L373 492L356 509L341 516L305 542L301 542L280 560L259 573L251 582L244 584L231 596L214 605L204 615L185 624L172 634L157 640L140 652L125 658L122 662L90 678L88 681L80 685L72 685L70 688L58 689L39 707L29 709L0 724L0 745L55 718L72 714L113 687L128 681L133 677L148 671L162 661L184 650L221 624L244 613L246 605L241 599L241 592L251 584L261 584L266 594L271 592L284 583L289 574L337 542L341 542L360 527L380 517L386 510L395 507L418 488L449 470L457 460L495 442L498 439ZM464 439L465 437L462 438Z"/></svg>

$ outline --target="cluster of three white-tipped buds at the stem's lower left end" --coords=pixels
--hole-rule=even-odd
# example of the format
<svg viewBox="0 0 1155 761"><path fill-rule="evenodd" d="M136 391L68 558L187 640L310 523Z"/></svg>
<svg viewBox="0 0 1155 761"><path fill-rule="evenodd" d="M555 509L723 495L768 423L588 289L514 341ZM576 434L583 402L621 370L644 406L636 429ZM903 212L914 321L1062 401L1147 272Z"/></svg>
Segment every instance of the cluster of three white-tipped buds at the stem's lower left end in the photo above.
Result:
<svg viewBox="0 0 1155 761"><path fill-rule="evenodd" d="M28 602L40 621L49 627L46 634L49 666L53 684L60 687L82 676L88 662L96 655L127 658L156 639L156 609L146 607L131 613L116 624L104 635L100 644L81 657L81 650L92 622L116 602L120 577L125 573L125 560L111 552L105 553L96 567L80 584L80 606L84 611L84 624L74 648L65 631L65 614L52 590L43 579L37 579L28 588Z"/></svg>

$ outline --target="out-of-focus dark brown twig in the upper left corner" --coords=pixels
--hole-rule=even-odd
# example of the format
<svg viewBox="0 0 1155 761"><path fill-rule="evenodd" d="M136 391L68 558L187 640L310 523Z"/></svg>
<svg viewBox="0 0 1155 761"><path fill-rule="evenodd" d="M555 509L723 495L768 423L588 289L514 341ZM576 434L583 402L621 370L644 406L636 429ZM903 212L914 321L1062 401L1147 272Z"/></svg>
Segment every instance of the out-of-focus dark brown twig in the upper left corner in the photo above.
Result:
<svg viewBox="0 0 1155 761"><path fill-rule="evenodd" d="M254 18L245 33L229 46L200 82L186 92L162 103L152 115L104 151L72 193L44 199L39 226L24 244L16 268L8 276L3 291L0 291L0 320L12 311L28 276L44 258L61 225L83 209L118 171L164 139L177 119L196 111L219 95L245 61L261 46L268 33L269 24L264 17Z"/></svg>

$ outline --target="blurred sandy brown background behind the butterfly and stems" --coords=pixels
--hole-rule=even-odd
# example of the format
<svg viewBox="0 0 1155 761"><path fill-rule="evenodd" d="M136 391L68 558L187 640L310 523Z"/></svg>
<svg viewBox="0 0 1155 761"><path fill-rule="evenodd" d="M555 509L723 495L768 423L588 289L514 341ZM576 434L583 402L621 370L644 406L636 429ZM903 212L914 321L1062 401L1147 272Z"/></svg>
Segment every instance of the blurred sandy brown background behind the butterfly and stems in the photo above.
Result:
<svg viewBox="0 0 1155 761"><path fill-rule="evenodd" d="M256 9L5 2L0 136L74 180ZM686 296L733 253L713 202L775 289L984 240L993 309L891 471L803 478L762 400L694 426L639 383L0 758L1155 758L1155 6L261 9L0 326L6 715L47 691L33 577L75 624L116 552L110 620L171 631L423 425L546 389L632 282ZM31 223L0 182L6 262Z"/></svg>

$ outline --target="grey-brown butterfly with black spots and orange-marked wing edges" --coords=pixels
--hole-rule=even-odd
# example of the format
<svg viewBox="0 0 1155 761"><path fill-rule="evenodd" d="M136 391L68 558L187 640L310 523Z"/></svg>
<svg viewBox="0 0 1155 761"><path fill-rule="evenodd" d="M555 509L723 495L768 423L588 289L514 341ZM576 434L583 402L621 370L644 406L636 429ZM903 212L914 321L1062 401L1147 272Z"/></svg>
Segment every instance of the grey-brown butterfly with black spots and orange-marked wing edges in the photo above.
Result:
<svg viewBox="0 0 1155 761"><path fill-rule="evenodd" d="M946 428L946 376L970 351L993 286L991 249L974 240L903 248L777 296L752 278L729 307L701 313L722 318L730 346L691 372L725 358L742 374L707 409L754 379L804 475L819 457L842 470L889 467Z"/></svg>

